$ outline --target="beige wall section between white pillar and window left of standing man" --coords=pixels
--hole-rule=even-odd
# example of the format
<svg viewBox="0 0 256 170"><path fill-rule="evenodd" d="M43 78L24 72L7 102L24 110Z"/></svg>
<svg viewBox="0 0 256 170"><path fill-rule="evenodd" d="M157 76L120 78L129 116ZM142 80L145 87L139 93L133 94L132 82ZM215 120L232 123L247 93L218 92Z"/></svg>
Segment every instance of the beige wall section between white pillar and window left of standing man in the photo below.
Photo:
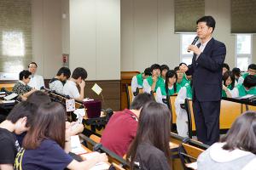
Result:
<svg viewBox="0 0 256 170"><path fill-rule="evenodd" d="M173 0L121 0L121 71L179 63Z"/></svg>

